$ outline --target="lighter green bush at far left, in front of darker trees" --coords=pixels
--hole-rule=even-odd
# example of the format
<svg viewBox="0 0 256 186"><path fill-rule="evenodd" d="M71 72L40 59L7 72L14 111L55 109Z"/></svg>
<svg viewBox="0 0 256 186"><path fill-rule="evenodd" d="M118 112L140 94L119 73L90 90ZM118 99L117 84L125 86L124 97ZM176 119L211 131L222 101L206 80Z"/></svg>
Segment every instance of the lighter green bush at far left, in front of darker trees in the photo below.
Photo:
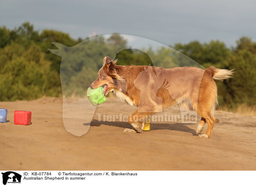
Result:
<svg viewBox="0 0 256 186"><path fill-rule="evenodd" d="M32 44L25 51L23 46L12 43L0 54L0 101L60 95L58 74L50 70L51 63L38 46Z"/></svg>

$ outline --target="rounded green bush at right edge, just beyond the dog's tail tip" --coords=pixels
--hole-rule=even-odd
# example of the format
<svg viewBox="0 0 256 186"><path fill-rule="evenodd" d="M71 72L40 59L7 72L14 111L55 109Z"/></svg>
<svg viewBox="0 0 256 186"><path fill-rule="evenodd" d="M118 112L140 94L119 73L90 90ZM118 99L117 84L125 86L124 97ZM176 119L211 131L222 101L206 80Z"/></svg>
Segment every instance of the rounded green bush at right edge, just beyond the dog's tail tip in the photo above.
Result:
<svg viewBox="0 0 256 186"><path fill-rule="evenodd" d="M239 50L228 59L228 66L236 69L234 78L224 81L224 102L236 106L239 103L256 105L256 55L250 50ZM231 99L230 99L231 98Z"/></svg>

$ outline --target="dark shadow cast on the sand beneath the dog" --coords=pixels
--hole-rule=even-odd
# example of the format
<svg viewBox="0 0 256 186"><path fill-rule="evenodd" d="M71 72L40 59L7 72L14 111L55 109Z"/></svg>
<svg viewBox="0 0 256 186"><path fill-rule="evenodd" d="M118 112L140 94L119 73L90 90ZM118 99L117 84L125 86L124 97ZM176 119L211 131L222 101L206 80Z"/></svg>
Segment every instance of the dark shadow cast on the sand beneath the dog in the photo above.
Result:
<svg viewBox="0 0 256 186"><path fill-rule="evenodd" d="M128 122L103 122L98 121L96 119L93 119L90 123L90 126L99 127L100 125L109 125L114 127L120 127L120 128L132 128L132 126ZM186 125L192 125L190 123L175 123L175 124L168 124L168 123L151 123L150 128L151 131L154 130L172 130L172 131L181 131L181 132L187 132L192 134L193 136L197 135L195 130L192 128L187 127Z"/></svg>

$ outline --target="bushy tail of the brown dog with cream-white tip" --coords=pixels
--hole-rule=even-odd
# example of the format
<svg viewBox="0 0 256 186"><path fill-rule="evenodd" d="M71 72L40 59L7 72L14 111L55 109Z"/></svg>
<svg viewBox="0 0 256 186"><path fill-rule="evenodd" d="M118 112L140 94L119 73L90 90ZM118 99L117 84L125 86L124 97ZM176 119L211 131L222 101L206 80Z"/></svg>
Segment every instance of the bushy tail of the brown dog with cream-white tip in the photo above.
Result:
<svg viewBox="0 0 256 186"><path fill-rule="evenodd" d="M234 69L226 70L226 69L218 69L215 67L209 67L205 69L205 73L209 74L215 80L221 80L232 78L234 75Z"/></svg>

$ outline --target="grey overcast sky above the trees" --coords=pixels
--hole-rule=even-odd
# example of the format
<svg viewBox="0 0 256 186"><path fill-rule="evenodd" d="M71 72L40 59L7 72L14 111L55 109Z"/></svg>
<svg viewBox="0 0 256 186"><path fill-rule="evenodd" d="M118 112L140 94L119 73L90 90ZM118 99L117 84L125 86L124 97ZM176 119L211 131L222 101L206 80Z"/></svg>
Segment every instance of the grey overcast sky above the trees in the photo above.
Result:
<svg viewBox="0 0 256 186"><path fill-rule="evenodd" d="M0 26L29 21L39 31L60 30L73 38L97 31L165 45L218 39L230 47L242 36L256 40L255 10L255 0L0 0Z"/></svg>

